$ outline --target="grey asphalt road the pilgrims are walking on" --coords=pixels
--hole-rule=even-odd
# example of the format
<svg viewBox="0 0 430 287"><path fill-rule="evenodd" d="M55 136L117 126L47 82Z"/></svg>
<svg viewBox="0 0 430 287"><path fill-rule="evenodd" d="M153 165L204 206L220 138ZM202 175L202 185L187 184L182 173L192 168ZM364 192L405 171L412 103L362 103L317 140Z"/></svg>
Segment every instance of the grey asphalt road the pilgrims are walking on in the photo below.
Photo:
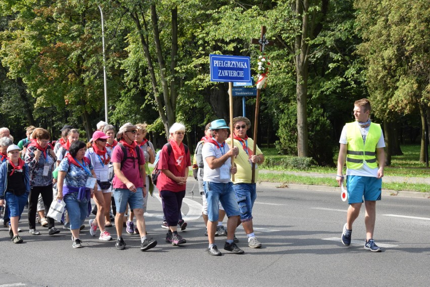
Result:
<svg viewBox="0 0 430 287"><path fill-rule="evenodd" d="M189 191L194 186L194 196ZM430 276L430 199L385 196L377 205L374 239L382 253L363 249L364 210L353 226L353 244L340 242L347 204L333 191L257 186L255 234L261 249L247 247L243 229L236 232L244 255L206 253L207 238L199 216L197 186L188 184L182 212L188 227L183 247L165 243L162 208L148 199L146 225L158 245L139 250L139 237L124 235L127 249L81 233L82 249L73 249L70 232L32 236L26 216L20 227L24 243L10 242L0 227L0 287L4 286L428 286ZM364 206L363 206L364 207ZM26 212L26 210L24 211ZM93 216L91 216L93 218ZM110 232L115 237L115 229Z"/></svg>

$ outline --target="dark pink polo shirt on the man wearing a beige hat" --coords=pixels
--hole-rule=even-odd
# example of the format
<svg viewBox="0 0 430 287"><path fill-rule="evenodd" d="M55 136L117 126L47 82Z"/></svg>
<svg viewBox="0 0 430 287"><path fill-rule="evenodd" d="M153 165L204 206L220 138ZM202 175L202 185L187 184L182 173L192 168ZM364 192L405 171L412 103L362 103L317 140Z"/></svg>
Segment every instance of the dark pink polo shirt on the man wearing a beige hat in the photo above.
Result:
<svg viewBox="0 0 430 287"><path fill-rule="evenodd" d="M137 149L140 153L140 162L137 162L133 159L127 159L122 166L121 171L123 172L124 176L131 181L136 188L143 187L143 178L140 176L140 170L139 165L145 164L145 156L143 155L142 150L139 148ZM126 148L127 155L131 157L130 152L128 148ZM112 162L113 163L121 163L122 159L124 158L123 150L118 145L114 152L112 153ZM125 185L118 177L117 175L114 176L114 180L112 181L114 188L124 188L127 189L127 185Z"/></svg>

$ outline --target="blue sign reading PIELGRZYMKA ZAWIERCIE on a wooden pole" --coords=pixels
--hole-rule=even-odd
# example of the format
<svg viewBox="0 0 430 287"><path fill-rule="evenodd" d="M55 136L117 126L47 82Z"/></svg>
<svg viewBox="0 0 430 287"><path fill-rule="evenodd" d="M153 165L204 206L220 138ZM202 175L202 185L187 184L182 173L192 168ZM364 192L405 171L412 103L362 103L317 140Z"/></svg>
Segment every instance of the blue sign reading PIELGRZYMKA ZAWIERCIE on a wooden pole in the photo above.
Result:
<svg viewBox="0 0 430 287"><path fill-rule="evenodd" d="M251 82L249 57L209 54L211 82Z"/></svg>

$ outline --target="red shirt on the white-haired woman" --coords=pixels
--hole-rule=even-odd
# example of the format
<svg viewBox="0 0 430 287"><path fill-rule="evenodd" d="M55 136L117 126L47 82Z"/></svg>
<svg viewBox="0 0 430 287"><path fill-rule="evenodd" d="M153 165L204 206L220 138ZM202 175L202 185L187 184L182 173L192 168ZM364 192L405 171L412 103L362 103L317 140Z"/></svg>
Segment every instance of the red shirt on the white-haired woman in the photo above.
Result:
<svg viewBox="0 0 430 287"><path fill-rule="evenodd" d="M184 161L186 163L185 166L189 167L191 166L191 159L190 159L190 151L185 154ZM176 160L175 156L173 155L173 151L170 153L167 151L167 146L164 146L160 157L158 160L158 169L168 169L170 170L175 176L184 177L185 176L185 168L182 170L182 172L179 172L176 168ZM173 192L179 192L184 191L186 189L186 185L179 185L176 183L176 181L170 179L165 175L163 172L161 172L158 175L157 178L157 188L158 190L168 190Z"/></svg>

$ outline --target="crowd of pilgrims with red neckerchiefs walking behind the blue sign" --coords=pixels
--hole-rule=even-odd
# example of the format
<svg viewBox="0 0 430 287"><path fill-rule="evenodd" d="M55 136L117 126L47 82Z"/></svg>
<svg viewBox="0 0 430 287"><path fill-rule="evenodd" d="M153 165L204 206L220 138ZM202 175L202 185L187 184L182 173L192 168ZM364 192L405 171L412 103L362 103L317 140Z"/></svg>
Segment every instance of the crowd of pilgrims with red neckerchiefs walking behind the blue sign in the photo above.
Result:
<svg viewBox="0 0 430 287"><path fill-rule="evenodd" d="M243 254L244 250L236 245L239 225L248 237L248 246L260 248L252 223L256 186L251 182L251 167L256 167L256 181L258 164L264 156L258 147L253 151L253 140L246 134L251 126L249 119L236 117L232 126L230 131L223 119L208 123L193 162L183 143L186 128L181 123L170 127L170 138L158 153L146 138L146 123L125 123L116 133L113 125L100 121L87 143L70 125L60 130L58 140L52 140L46 129L29 126L26 138L17 145L11 131L2 127L0 223L9 228L13 243L22 243L26 236L21 235L25 234L21 229L25 224L20 219L27 208L29 236L40 236L40 227L48 229L48 236L70 230L73 248L82 248L80 236L85 235L85 221L93 213L95 218L87 222L90 236L98 235L100 241L115 238L115 247L123 250L125 228L128 234L140 236L140 250L146 251L157 241L147 236L144 212L148 196L158 192L164 213L161 227L168 230L166 242L183 245L187 240L178 230L184 231L188 225L182 218L181 206L192 166L202 195L207 253L222 255L215 237L225 236L224 250ZM233 139L229 138L230 132ZM149 164L154 164L156 176L151 177ZM58 203L64 204L65 212L56 222L47 215L50 206ZM114 225L111 232L115 230L116 236L108 231Z"/></svg>

